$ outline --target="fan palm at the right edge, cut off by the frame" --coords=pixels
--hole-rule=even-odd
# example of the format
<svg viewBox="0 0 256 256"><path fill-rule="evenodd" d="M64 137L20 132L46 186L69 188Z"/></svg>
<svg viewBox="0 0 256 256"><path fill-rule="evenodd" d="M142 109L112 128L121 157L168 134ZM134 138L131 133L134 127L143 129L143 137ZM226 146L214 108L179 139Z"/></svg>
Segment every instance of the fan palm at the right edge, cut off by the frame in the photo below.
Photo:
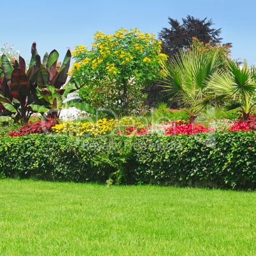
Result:
<svg viewBox="0 0 256 256"><path fill-rule="evenodd" d="M226 110L241 108L245 121L255 108L256 69L249 68L246 62L239 68L231 59L228 60L227 66L226 71L215 74L210 82L210 87L215 93L213 97L227 101Z"/></svg>

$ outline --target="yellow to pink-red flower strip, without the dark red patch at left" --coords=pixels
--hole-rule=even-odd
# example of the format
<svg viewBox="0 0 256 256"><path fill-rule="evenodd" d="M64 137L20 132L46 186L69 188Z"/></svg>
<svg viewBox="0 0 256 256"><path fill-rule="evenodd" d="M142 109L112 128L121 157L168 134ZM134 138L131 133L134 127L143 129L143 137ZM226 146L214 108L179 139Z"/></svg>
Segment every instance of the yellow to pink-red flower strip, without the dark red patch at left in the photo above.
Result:
<svg viewBox="0 0 256 256"><path fill-rule="evenodd" d="M57 134L68 134L69 136L98 136L101 134L110 134L111 132L125 135L142 135L155 131L166 135L174 134L197 134L199 132L215 132L215 131L252 131L256 126L252 122L235 122L232 120L215 120L210 122L212 127L206 128L201 124L187 124L185 120L162 122L162 124L143 125L136 122L134 118L122 118L121 120L98 120L95 124L90 122L82 124L65 121L52 127Z"/></svg>

